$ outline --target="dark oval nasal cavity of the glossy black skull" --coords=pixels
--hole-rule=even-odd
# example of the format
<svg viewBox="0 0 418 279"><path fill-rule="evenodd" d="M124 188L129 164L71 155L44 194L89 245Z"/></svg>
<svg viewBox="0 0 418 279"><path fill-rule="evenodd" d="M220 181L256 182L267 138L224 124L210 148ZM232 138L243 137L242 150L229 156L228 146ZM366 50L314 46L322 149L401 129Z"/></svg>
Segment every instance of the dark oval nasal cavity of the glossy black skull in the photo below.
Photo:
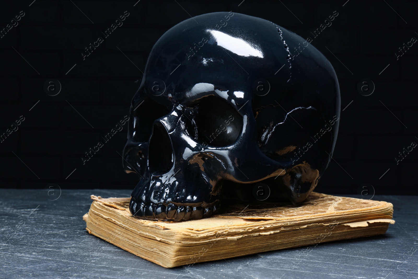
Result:
<svg viewBox="0 0 418 279"><path fill-rule="evenodd" d="M174 156L170 137L166 128L159 122L154 123L153 132L148 145L148 166L150 173L161 175L173 166Z"/></svg>

